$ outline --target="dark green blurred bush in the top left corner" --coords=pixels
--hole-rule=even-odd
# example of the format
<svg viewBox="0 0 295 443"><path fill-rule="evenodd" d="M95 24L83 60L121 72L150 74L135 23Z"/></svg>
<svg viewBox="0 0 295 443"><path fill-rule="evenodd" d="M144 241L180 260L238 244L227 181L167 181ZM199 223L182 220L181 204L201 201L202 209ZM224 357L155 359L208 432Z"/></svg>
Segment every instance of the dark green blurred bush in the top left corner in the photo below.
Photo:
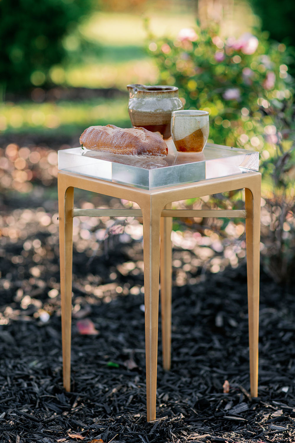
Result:
<svg viewBox="0 0 295 443"><path fill-rule="evenodd" d="M46 84L50 66L65 56L62 38L91 8L92 0L1 0L2 89Z"/></svg>

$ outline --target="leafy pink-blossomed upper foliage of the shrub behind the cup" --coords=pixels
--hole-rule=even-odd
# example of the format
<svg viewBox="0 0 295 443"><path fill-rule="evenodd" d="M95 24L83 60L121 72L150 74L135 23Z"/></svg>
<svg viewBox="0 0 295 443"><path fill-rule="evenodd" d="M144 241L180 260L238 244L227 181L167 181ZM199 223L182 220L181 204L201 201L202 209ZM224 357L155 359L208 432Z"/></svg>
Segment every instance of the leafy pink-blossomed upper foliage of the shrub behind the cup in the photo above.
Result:
<svg viewBox="0 0 295 443"><path fill-rule="evenodd" d="M263 134L271 131L264 128L292 103L285 45L270 45L263 33L223 41L214 26L182 31L174 41L149 44L159 81L178 86L186 109L210 113L215 143L263 149Z"/></svg>

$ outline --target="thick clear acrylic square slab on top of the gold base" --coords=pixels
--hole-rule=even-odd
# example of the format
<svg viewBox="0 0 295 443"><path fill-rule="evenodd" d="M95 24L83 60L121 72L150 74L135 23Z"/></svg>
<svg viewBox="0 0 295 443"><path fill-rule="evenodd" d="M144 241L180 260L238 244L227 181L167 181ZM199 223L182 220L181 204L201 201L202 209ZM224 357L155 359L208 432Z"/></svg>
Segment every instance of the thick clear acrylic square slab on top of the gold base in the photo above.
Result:
<svg viewBox="0 0 295 443"><path fill-rule="evenodd" d="M172 140L167 157L138 157L69 148L58 151L62 171L143 189L156 189L258 171L258 152L207 143L203 152L177 152Z"/></svg>

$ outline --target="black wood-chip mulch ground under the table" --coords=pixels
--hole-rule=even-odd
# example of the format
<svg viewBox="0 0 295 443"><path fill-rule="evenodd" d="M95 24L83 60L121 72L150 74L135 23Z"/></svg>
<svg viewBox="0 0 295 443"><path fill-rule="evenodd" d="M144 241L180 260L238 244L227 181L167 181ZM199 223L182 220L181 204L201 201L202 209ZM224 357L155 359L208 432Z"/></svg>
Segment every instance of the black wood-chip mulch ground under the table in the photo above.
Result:
<svg viewBox="0 0 295 443"><path fill-rule="evenodd" d="M56 236L46 227L28 233L46 250L39 268L29 243L2 245L1 442L295 442L294 291L262 272L259 398L251 399L245 264L175 286L172 369L161 368L159 340L157 420L146 423L144 296L130 293L143 275L118 270L142 260L141 243L115 244L90 262L74 252L72 392L65 392ZM93 295L89 284L103 291ZM81 317L99 333L79 334Z"/></svg>

